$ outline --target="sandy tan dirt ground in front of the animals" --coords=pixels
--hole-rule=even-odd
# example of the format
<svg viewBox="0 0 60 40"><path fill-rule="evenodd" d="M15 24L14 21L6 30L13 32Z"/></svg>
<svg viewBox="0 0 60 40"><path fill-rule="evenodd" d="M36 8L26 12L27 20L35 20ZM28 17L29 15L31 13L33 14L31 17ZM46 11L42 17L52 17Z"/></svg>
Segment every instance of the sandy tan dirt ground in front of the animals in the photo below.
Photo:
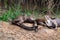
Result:
<svg viewBox="0 0 60 40"><path fill-rule="evenodd" d="M54 30L39 26L38 32L34 32L0 21L0 40L60 40L60 28Z"/></svg>

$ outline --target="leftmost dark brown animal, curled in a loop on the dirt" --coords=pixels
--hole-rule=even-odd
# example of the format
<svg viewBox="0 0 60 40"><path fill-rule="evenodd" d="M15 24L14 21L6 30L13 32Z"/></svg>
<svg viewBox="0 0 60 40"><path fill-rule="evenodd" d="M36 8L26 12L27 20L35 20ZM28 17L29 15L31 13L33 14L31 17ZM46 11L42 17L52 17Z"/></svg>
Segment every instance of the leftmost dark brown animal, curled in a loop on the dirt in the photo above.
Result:
<svg viewBox="0 0 60 40"><path fill-rule="evenodd" d="M23 23L27 23L27 22L31 23L31 21L33 22L32 27L28 27L28 26L23 25ZM31 17L27 17L26 15L17 17L16 19L14 19L12 21L12 24L17 25L17 26L19 26L25 30L29 30L29 31L34 30L36 32L38 29L38 25L37 25L35 19L33 19Z"/></svg>

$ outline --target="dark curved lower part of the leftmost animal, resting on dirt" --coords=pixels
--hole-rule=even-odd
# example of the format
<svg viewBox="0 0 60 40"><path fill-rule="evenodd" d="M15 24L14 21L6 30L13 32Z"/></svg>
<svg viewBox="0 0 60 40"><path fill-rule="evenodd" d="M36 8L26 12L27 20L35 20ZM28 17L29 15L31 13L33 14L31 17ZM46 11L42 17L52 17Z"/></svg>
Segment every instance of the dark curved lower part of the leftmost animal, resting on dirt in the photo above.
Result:
<svg viewBox="0 0 60 40"><path fill-rule="evenodd" d="M23 25L23 23L19 23L18 24L18 22L19 21L15 21L15 22L12 22L12 24L14 24L14 25L17 25L17 26L19 26L19 27L21 27L21 28L23 28L23 29L25 29L25 30L29 30L29 31L37 31L37 29L38 29L38 25L36 25L35 26L35 24L32 26L32 27L28 27L28 26L25 26L25 25Z"/></svg>

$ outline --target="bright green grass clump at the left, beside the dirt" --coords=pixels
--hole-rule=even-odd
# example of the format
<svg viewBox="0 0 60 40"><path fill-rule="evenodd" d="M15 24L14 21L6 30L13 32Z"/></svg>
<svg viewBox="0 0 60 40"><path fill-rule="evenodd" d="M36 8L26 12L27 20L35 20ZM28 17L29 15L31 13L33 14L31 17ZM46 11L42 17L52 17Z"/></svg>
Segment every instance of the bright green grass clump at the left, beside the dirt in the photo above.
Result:
<svg viewBox="0 0 60 40"><path fill-rule="evenodd" d="M9 21L10 19L14 19L18 15L21 15L20 7L17 7L16 9L9 8L9 10L7 10L7 12L3 13L0 16L0 20Z"/></svg>

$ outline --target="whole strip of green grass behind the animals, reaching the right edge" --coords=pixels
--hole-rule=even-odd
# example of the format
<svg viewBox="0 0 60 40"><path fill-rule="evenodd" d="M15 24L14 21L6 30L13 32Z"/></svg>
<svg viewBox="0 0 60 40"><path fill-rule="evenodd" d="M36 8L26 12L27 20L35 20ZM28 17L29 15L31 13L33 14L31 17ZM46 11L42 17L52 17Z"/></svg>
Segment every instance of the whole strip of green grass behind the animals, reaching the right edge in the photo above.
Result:
<svg viewBox="0 0 60 40"><path fill-rule="evenodd" d="M0 20L3 21L9 21L9 20L13 20L14 18L16 18L18 15L23 15L26 14L28 16L30 15L34 15L36 18L38 18L39 16L42 17L44 15L46 15L45 10L47 10L46 8L42 8L41 10L22 10L21 6L18 5L17 8L11 7L9 8L9 10L7 10L7 12L3 13L0 16ZM55 17L60 17L60 10L55 11Z"/></svg>

